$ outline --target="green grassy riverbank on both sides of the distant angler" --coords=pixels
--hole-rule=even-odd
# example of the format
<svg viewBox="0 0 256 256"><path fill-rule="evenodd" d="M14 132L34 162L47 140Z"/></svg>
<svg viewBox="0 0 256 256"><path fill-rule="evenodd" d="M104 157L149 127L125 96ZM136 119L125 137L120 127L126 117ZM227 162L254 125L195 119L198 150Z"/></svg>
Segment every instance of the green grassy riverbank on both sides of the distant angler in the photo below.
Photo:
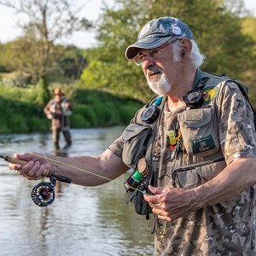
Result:
<svg viewBox="0 0 256 256"><path fill-rule="evenodd" d="M49 131L50 121L44 115L41 95L37 86L0 85L0 133ZM70 95L72 128L128 125L143 105L102 90L73 89Z"/></svg>

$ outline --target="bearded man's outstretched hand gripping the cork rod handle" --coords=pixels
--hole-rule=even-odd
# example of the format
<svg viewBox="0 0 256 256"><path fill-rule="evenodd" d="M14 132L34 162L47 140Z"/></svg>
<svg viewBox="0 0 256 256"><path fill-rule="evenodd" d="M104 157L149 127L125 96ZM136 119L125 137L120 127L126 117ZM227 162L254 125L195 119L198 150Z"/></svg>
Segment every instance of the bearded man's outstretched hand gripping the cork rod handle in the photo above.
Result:
<svg viewBox="0 0 256 256"><path fill-rule="evenodd" d="M40 157L40 155L42 155L42 157ZM43 154L15 154L15 158L25 160L27 164L25 166L21 166L20 164L9 164L9 169L17 171L19 175L22 175L29 180L38 180L44 177L43 173L45 170L50 169L49 162L45 160Z"/></svg>

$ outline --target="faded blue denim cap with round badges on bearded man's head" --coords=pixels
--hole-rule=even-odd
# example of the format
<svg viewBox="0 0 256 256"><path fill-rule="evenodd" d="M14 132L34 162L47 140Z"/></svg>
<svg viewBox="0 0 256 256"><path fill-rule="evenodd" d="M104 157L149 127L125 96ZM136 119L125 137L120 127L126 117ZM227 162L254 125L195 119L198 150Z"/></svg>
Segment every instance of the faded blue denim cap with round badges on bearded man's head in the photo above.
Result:
<svg viewBox="0 0 256 256"><path fill-rule="evenodd" d="M137 42L128 46L125 56L127 59L132 59L140 49L154 49L172 37L194 40L189 26L182 20L173 17L150 20L138 33Z"/></svg>

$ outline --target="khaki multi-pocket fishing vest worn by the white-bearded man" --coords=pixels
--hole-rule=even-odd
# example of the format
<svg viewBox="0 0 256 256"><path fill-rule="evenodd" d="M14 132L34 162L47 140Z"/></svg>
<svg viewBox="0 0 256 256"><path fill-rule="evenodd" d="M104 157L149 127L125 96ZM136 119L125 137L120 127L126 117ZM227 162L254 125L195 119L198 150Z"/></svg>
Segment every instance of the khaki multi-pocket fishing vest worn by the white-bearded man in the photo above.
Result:
<svg viewBox="0 0 256 256"><path fill-rule="evenodd" d="M142 146L148 134L148 129L152 130L148 142L144 145L146 147L144 157L148 164L148 176L143 180L138 190L128 192L126 199L127 203L131 202L131 205L138 214L148 216L151 213L148 203L143 200L143 194L140 192L146 191L146 193L149 193L147 189L148 184L161 187L172 186L175 188L192 189L217 176L230 163L229 160L224 159L224 154L220 148L217 119L219 113L218 108L213 104L213 100L218 95L218 88L222 87L227 81L235 82L246 98L247 87L224 76L212 76L201 71L200 73L201 78L207 78L206 83L201 89L204 98L203 104L200 108L179 108L177 113L172 115L171 123L172 125L179 126L183 143L174 159L171 159L170 155L172 152L170 150L165 152L166 160L170 159L170 162L172 162L170 164L172 165L172 172L168 172L169 177L167 179L167 172L158 172L160 163L156 160L160 159L160 154L162 154L157 147L157 143L161 139L166 139L164 134L158 134L159 125L165 125L161 124L160 121L163 111L160 111L160 116L154 124L145 124L142 115L145 109L148 108L148 105L151 104L149 102L148 105L137 112L131 125L128 125L123 133L124 148L122 160L125 165L135 169L143 150ZM217 88L217 85L220 86ZM165 100L166 98L161 104L161 109L164 108ZM184 158L186 158L185 161ZM169 168L168 165L166 168Z"/></svg>

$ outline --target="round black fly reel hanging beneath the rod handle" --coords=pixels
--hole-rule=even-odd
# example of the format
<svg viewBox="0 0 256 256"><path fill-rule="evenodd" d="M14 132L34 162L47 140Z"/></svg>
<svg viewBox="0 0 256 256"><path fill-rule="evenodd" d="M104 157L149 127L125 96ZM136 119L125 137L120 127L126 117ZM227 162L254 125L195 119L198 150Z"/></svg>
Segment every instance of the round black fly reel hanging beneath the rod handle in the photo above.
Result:
<svg viewBox="0 0 256 256"><path fill-rule="evenodd" d="M49 183L38 183L31 191L32 201L38 207L47 207L55 201L55 185L59 180L63 183L71 183L71 179L57 174L52 174L49 177Z"/></svg>

